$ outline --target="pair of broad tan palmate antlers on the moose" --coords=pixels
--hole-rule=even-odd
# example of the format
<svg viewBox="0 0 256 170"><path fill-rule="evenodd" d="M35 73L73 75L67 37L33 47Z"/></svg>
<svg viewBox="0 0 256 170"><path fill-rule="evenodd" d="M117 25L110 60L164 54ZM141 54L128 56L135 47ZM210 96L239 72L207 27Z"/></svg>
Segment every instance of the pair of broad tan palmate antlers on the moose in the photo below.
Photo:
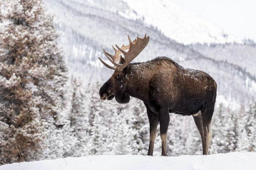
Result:
<svg viewBox="0 0 256 170"><path fill-rule="evenodd" d="M103 49L103 53L105 54L105 56L107 56L107 58L109 59L109 61L114 64L114 66L116 66L116 68L118 68L119 71L122 71L124 68L126 68L126 66L133 61L133 59L135 57L137 57L140 52L147 46L148 42L149 42L149 36L147 36L147 34L145 34L145 36L143 38L139 38L137 36L137 39L135 39L133 42L130 40L130 37L128 35L128 39L129 39L129 45L122 45L121 48L119 48L116 45L115 49L113 46L113 49L115 50L115 55L111 55L109 53L107 53L104 49ZM124 50L129 49L127 52ZM123 53L124 55L124 63L123 64L117 64L116 61L118 61L118 59L120 58L121 60L121 53ZM102 59L99 57L100 61L102 62L102 64L104 64L107 68L110 68L112 70L115 70L115 67L112 67L110 65L108 65L107 63L105 63L104 61L102 61Z"/></svg>

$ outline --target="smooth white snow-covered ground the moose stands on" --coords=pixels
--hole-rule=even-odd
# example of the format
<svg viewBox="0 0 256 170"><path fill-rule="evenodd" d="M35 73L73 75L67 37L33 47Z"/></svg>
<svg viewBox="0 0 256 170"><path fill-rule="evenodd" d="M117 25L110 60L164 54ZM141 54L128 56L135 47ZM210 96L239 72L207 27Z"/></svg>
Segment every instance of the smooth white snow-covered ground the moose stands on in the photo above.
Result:
<svg viewBox="0 0 256 170"><path fill-rule="evenodd" d="M12 163L0 170L255 170L256 152L176 157L97 155Z"/></svg>

